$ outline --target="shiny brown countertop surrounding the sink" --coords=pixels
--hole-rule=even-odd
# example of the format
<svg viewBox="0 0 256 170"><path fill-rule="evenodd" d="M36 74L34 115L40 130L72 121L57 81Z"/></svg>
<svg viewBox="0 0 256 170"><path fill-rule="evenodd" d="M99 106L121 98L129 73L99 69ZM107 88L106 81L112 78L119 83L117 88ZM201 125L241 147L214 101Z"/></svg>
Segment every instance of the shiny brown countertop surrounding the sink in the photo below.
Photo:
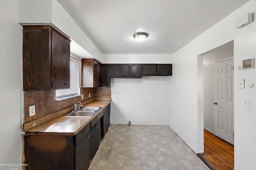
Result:
<svg viewBox="0 0 256 170"><path fill-rule="evenodd" d="M108 104L110 100L94 100L84 107L102 107L102 111ZM32 129L25 131L27 135L45 134L45 135L76 135L81 129L83 129L90 121L98 115L96 113L92 117L73 117L73 116L60 116L56 117L50 121L42 123Z"/></svg>

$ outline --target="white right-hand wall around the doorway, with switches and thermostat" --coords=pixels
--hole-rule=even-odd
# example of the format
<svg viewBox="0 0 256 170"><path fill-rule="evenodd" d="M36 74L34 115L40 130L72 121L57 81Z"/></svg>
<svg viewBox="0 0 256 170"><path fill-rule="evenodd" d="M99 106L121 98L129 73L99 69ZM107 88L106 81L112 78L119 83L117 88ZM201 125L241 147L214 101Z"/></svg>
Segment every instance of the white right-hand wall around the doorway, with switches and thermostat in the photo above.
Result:
<svg viewBox="0 0 256 170"><path fill-rule="evenodd" d="M246 13L256 13L256 1L249 1L244 6L224 18L222 21L202 33L182 49L174 53L173 76L170 79L170 114L169 125L196 152L203 152L203 106L198 106L198 55L234 40L234 66L242 58L255 57L256 21L240 28L235 28L236 20ZM237 89L239 78L256 83L255 69L234 72L234 130L235 130L235 169L256 169L256 105L251 109L242 109L242 98L250 98L256 103L256 89ZM185 106L185 107L184 107ZM248 148L250 147L250 149Z"/></svg>

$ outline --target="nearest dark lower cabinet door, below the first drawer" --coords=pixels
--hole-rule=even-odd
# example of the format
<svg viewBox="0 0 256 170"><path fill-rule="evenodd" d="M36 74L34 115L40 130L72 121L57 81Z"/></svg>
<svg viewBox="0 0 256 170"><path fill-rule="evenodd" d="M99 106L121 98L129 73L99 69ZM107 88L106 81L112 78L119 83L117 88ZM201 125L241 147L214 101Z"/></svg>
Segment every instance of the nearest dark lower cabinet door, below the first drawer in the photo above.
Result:
<svg viewBox="0 0 256 170"><path fill-rule="evenodd" d="M75 170L87 170L90 166L90 132L75 146Z"/></svg>

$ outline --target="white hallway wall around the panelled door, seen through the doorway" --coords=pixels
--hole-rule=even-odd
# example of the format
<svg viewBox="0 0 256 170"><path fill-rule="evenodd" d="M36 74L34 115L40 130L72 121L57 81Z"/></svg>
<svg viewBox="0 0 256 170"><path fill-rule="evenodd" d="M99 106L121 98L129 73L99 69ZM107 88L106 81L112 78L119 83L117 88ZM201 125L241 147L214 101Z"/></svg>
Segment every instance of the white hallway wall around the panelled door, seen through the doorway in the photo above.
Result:
<svg viewBox="0 0 256 170"><path fill-rule="evenodd" d="M214 133L214 61L234 56L234 43L223 45L214 51L203 55L204 57L204 128Z"/></svg>

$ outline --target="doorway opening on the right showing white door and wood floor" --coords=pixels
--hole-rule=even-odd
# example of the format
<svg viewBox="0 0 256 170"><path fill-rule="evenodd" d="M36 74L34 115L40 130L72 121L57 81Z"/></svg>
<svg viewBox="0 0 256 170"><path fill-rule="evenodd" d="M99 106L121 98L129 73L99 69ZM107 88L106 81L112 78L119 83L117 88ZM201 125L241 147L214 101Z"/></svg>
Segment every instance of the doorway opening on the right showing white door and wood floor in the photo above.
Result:
<svg viewBox="0 0 256 170"><path fill-rule="evenodd" d="M200 155L213 169L234 169L234 146L230 144L234 144L233 56L233 41L198 56L198 96L203 99L203 106L198 107L204 115L204 154ZM226 106L227 101L232 104Z"/></svg>

